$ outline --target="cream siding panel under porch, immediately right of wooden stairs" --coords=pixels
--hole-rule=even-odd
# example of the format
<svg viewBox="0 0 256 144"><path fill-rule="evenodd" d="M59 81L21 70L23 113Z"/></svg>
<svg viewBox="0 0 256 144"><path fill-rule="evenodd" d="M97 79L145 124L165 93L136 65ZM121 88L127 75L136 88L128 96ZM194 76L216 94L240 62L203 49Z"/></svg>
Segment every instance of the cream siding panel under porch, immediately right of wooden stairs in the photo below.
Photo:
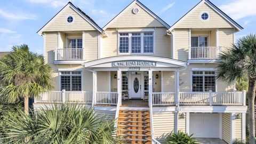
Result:
<svg viewBox="0 0 256 144"><path fill-rule="evenodd" d="M166 143L167 135L174 131L174 113L154 112L153 113L155 139L160 143Z"/></svg>

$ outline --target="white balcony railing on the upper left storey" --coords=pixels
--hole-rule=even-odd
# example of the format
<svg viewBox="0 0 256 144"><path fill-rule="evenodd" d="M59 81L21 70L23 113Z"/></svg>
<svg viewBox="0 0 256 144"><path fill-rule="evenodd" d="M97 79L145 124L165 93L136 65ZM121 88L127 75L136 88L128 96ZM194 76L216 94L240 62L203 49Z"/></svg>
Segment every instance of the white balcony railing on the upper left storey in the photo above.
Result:
<svg viewBox="0 0 256 144"><path fill-rule="evenodd" d="M85 60L85 49L55 49L54 60Z"/></svg>

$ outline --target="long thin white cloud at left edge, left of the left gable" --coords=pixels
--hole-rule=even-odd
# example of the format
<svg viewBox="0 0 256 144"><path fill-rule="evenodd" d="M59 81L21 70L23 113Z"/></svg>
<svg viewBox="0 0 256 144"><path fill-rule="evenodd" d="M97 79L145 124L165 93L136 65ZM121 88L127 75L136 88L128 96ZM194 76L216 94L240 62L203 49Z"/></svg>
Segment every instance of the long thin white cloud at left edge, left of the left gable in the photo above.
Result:
<svg viewBox="0 0 256 144"><path fill-rule="evenodd" d="M4 18L7 20L34 20L36 19L36 15L29 14L25 12L8 12L3 9L0 9L0 18Z"/></svg>

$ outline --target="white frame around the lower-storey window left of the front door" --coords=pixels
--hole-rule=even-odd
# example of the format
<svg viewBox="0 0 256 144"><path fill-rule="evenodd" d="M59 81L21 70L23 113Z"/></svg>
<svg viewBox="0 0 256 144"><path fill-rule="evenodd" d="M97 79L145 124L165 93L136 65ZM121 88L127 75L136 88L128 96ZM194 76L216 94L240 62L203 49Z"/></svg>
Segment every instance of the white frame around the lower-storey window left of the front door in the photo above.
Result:
<svg viewBox="0 0 256 144"><path fill-rule="evenodd" d="M84 69L83 68L59 68L58 71L59 71L59 90L60 91L61 91L61 71L71 71L71 72L72 71L81 71L81 81L82 81L81 82L81 91L84 91ZM75 92L75 91L73 91L73 92Z"/></svg>

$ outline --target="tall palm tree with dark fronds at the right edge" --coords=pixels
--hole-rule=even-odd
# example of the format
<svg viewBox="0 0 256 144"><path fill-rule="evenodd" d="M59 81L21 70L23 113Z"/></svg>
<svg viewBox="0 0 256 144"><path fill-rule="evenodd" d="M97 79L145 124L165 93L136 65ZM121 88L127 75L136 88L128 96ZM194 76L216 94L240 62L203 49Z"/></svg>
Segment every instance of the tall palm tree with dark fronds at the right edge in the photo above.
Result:
<svg viewBox="0 0 256 144"><path fill-rule="evenodd" d="M255 143L254 100L256 91L256 35L250 34L233 44L232 49L220 55L218 79L233 83L247 77L249 81L249 131L250 143Z"/></svg>

